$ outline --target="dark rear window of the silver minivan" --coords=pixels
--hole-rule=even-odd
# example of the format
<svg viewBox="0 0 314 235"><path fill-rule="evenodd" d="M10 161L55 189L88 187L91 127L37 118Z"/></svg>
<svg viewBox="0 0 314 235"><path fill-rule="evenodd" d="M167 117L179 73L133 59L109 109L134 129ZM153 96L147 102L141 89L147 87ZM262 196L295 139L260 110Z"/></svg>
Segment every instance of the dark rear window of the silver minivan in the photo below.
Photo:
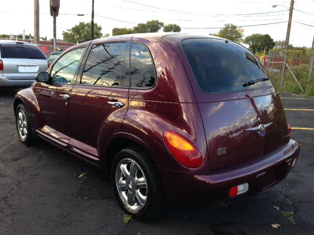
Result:
<svg viewBox="0 0 314 235"><path fill-rule="evenodd" d="M42 59L45 54L38 48L23 44L0 44L1 58Z"/></svg>

